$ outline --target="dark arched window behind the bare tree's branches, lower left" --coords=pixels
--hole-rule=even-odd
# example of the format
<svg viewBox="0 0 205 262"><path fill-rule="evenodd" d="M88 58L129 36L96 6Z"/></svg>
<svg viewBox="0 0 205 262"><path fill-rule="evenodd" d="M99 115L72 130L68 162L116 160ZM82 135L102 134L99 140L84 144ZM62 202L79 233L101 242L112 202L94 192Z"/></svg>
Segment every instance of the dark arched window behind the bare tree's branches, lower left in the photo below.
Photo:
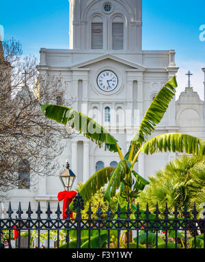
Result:
<svg viewBox="0 0 205 262"><path fill-rule="evenodd" d="M18 189L30 188L30 164L23 159L18 164Z"/></svg>

